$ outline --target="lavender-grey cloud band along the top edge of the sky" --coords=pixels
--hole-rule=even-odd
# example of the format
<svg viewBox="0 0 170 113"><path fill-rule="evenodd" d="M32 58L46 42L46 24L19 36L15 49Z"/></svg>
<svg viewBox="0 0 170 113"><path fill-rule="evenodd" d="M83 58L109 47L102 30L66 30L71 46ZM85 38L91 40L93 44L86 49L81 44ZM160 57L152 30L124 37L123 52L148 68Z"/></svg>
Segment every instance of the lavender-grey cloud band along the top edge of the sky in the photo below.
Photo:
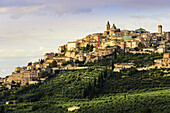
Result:
<svg viewBox="0 0 170 113"><path fill-rule="evenodd" d="M0 13L9 13L13 17L37 12L40 14L63 15L89 13L94 8L112 5L123 8L160 10L169 8L169 2L169 0L1 0Z"/></svg>

